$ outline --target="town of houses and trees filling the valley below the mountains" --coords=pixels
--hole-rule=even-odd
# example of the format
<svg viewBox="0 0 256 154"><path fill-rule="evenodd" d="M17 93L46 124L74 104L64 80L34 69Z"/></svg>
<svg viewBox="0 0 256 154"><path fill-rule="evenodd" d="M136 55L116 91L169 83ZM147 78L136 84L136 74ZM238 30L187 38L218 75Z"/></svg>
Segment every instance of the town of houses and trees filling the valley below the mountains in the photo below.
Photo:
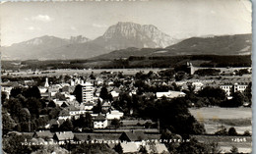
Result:
<svg viewBox="0 0 256 154"><path fill-rule="evenodd" d="M200 68L191 62L132 71L2 70L3 150L182 153L197 146L196 153L247 153L251 115L243 123L237 116L239 110L251 112L251 73L251 67ZM238 114L204 120L200 109ZM243 141L224 148L224 142L213 142L216 135ZM23 144L11 147L16 141Z"/></svg>

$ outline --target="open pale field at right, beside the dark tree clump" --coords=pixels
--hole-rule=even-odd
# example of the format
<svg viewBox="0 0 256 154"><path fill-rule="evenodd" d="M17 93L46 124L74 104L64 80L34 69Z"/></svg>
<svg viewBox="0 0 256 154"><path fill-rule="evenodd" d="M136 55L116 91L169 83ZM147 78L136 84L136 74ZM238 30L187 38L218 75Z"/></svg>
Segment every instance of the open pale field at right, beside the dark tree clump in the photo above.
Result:
<svg viewBox="0 0 256 154"><path fill-rule="evenodd" d="M227 129L233 127L240 134L245 130L252 131L251 108L191 108L189 111L204 124L207 133L214 133L222 127Z"/></svg>

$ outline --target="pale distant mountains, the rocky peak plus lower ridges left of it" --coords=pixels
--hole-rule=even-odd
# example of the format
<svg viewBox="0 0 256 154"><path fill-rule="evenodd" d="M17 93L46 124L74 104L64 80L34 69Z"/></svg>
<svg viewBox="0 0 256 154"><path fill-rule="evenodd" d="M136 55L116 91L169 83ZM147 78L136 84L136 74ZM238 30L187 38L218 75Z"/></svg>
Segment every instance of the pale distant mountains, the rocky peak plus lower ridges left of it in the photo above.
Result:
<svg viewBox="0 0 256 154"><path fill-rule="evenodd" d="M82 35L63 39L54 36L41 36L28 41L2 47L4 60L65 60L88 59L113 50L135 48L166 47L177 42L163 33L157 26L117 23L94 40Z"/></svg>

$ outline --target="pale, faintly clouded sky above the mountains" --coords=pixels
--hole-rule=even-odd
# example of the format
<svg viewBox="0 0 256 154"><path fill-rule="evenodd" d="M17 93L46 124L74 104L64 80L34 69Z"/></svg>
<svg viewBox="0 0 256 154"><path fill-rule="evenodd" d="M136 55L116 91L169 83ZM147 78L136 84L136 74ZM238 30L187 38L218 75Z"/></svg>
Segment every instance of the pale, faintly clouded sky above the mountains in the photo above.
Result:
<svg viewBox="0 0 256 154"><path fill-rule="evenodd" d="M173 38L251 33L251 13L249 0L5 2L1 45L42 35L95 39L118 22L154 25Z"/></svg>

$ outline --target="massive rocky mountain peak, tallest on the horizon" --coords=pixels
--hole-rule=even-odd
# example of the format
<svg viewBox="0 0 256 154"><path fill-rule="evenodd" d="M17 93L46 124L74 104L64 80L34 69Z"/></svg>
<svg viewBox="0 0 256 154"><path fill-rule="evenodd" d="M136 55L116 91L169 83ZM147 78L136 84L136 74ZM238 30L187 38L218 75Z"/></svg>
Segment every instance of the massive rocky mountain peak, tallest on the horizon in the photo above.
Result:
<svg viewBox="0 0 256 154"><path fill-rule="evenodd" d="M157 26L119 22L114 26L108 27L102 38L105 42L116 42L110 49L121 49L129 46L129 42L134 42L132 47L166 47L175 43L169 35L160 31ZM120 44L122 46L120 46Z"/></svg>

